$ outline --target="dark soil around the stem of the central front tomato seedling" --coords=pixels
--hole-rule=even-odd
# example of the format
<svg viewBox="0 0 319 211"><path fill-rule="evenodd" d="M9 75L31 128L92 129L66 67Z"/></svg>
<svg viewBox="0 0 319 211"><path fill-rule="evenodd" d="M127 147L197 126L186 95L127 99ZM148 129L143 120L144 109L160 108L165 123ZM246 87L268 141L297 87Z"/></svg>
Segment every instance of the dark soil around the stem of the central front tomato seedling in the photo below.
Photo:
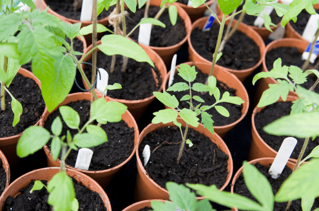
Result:
<svg viewBox="0 0 319 211"><path fill-rule="evenodd" d="M184 131L185 127L182 127L182 130ZM184 145L183 155L177 164L182 141L179 128L163 127L147 134L138 148L142 163L142 152L146 144L151 151L162 144L151 153L148 164L144 166L148 175L163 188L168 181L178 184L200 183L206 186L215 184L221 188L228 174L228 156L208 137L191 128L188 129L186 139L188 138L194 145Z"/></svg>

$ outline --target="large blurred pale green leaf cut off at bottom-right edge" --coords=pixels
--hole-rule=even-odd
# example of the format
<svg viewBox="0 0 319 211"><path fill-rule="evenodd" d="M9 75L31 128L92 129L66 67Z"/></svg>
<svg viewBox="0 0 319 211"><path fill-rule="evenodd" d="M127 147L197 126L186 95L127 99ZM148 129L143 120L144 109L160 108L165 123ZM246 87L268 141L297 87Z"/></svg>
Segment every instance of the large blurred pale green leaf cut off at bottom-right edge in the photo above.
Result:
<svg viewBox="0 0 319 211"><path fill-rule="evenodd" d="M281 185L275 201L284 202L300 199L303 196L319 196L319 159L314 158L291 174Z"/></svg>

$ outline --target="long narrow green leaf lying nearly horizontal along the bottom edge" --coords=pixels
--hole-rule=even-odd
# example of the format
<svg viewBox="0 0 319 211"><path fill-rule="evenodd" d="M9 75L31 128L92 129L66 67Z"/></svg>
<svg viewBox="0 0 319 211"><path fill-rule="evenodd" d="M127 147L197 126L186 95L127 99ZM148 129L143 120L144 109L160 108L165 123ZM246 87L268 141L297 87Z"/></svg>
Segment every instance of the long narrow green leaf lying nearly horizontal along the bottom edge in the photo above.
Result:
<svg viewBox="0 0 319 211"><path fill-rule="evenodd" d="M208 200L216 202L226 207L237 207L241 210L258 210L265 211L265 209L257 202L250 200L237 193L230 193L226 191L219 191L215 185L204 186L201 184L189 184L186 186L196 190L197 194L205 196Z"/></svg>

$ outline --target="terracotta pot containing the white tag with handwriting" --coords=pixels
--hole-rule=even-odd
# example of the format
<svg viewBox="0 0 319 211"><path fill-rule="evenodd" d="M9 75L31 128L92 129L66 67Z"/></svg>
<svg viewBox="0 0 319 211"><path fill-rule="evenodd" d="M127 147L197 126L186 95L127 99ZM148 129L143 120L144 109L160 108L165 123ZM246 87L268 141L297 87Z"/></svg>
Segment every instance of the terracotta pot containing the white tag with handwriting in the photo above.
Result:
<svg viewBox="0 0 319 211"><path fill-rule="evenodd" d="M70 102L75 102L77 100L91 100L91 94L89 92L78 92L78 93L73 93L69 94L68 97L58 106L60 107L61 105L66 105ZM111 99L106 98L107 101L111 101ZM55 110L58 109L56 107L51 113L53 113ZM48 112L47 108L45 109L45 113L43 115L43 120L40 122L40 126L43 127L45 124L45 120L48 118L48 115L50 113ZM73 166L66 165L67 168L72 169L74 171L80 171L89 177L93 178L97 183L99 183L100 186L105 188L110 180L113 178L114 174L119 171L124 164L126 164L134 155L135 153L135 148L137 144L137 137L139 135L138 127L137 124L133 118L133 116L130 114L130 112L126 111L124 114L122 114L122 120L124 120L129 127L134 127L134 149L131 153L131 155L121 164L115 166L114 168L111 169L106 169L102 171L86 171L86 170L81 170L81 169L76 169ZM47 155L47 161L48 161L48 167L59 167L61 164L60 159L57 159L56 161L53 160L51 151L49 150L48 146L45 145L44 147L45 154Z"/></svg>

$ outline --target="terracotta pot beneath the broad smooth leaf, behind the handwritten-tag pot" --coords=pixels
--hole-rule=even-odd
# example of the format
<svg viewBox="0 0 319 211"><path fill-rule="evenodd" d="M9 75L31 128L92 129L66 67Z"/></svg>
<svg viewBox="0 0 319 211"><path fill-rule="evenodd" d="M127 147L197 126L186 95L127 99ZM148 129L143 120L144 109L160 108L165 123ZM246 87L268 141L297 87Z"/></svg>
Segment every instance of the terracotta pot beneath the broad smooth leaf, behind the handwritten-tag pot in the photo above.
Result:
<svg viewBox="0 0 319 211"><path fill-rule="evenodd" d="M97 42L97 45L101 44L101 40L99 40ZM155 67L157 69L159 69L161 78L164 80L166 74L167 74L167 70L166 70L166 66L163 62L163 60L159 57L158 54L156 54L152 49L150 49L148 46L142 45L140 44L140 46L145 50L145 52L147 53L147 55L150 57L150 59L152 60L152 62L154 63ZM89 47L87 47L85 54L90 51L92 49L92 45L90 45ZM100 50L97 49L97 52L99 52ZM83 62L86 62L87 60L89 60L90 58L92 58L92 53L89 54L84 60ZM85 65L81 64L82 69L84 69ZM84 79L82 78L83 84L85 89L88 89L88 86L85 84ZM163 84L161 85L161 89L163 89ZM95 92L98 94L98 96L102 96L102 93L100 93L99 91L97 91L95 89ZM110 98L113 99L113 98ZM138 121L141 116L143 115L144 111L146 110L147 106L150 105L153 100L155 99L155 96L152 95L151 97L148 98L144 98L141 100L125 100L125 99L114 99L115 101L118 101L120 103L123 103L124 105L126 105L129 110L129 112L133 115L133 117L135 118L136 121Z"/></svg>

